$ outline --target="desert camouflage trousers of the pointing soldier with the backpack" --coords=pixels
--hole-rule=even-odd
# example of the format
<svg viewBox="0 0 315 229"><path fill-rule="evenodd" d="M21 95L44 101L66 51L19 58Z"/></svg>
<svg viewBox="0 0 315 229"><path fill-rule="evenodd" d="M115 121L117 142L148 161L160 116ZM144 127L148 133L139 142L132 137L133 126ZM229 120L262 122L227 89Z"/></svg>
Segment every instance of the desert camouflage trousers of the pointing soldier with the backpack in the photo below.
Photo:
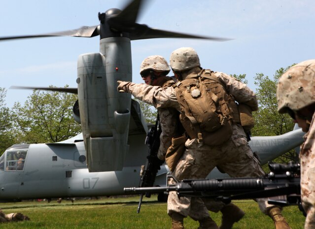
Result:
<svg viewBox="0 0 315 229"><path fill-rule="evenodd" d="M186 141L186 151L176 165L172 175L177 180L206 178L215 166L220 166L231 177L261 177L265 175L258 160L253 156L243 135L232 135L231 139L220 146L210 147L198 143L197 139ZM260 210L268 214L274 205L267 198L256 199ZM220 201L199 197L180 197L170 192L168 214L177 212L194 220L209 217L209 212L217 212L224 206Z"/></svg>

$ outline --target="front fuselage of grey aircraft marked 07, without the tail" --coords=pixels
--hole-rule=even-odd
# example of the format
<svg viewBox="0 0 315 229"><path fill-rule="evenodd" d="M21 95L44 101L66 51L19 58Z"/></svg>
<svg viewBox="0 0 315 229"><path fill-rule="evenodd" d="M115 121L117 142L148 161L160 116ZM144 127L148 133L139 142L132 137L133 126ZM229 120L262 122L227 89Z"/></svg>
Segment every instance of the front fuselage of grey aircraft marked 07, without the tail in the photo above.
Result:
<svg viewBox="0 0 315 229"><path fill-rule="evenodd" d="M130 141L138 144L130 144L133 154L127 155L123 170L109 172L88 171L83 141L12 146L0 159L0 200L123 195L124 187L139 185L141 163L132 165L135 157L145 162L147 146L139 144L143 141L138 137L144 138L130 136ZM21 151L25 161L18 167L18 156L11 155ZM161 167L156 185L165 185L167 169Z"/></svg>

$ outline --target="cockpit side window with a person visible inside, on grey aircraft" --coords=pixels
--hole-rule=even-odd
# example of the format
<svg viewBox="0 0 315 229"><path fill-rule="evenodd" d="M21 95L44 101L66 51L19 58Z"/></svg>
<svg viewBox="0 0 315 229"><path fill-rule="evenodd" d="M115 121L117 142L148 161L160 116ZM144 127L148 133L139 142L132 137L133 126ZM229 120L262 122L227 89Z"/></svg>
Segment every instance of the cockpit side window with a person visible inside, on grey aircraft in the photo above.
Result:
<svg viewBox="0 0 315 229"><path fill-rule="evenodd" d="M24 169L27 149L8 150L6 152L6 167L5 170L21 171Z"/></svg>

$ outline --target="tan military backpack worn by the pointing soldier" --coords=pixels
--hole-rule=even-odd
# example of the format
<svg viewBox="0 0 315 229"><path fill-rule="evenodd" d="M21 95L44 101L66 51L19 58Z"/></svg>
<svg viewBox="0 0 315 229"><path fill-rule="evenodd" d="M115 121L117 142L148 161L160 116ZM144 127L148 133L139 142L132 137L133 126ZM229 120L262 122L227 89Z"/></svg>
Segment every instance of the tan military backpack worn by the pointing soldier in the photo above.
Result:
<svg viewBox="0 0 315 229"><path fill-rule="evenodd" d="M191 139L197 138L199 142L216 146L231 137L237 104L213 71L202 69L173 87L181 105L179 119ZM236 109L231 109L231 105Z"/></svg>

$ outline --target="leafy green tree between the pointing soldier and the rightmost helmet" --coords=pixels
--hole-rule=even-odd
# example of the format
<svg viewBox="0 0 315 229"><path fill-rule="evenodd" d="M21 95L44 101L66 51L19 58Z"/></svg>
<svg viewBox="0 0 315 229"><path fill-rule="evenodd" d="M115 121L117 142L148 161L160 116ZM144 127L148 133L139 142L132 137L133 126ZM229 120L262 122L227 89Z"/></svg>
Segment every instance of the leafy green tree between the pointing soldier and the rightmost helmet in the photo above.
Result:
<svg viewBox="0 0 315 229"><path fill-rule="evenodd" d="M294 123L287 114L279 114L276 98L277 84L280 76L289 68L280 68L271 79L262 73L256 74L255 85L258 100L258 111L253 112L255 127L251 133L254 136L275 136L292 131ZM295 150L280 156L276 162L287 163L288 161L298 161Z"/></svg>

